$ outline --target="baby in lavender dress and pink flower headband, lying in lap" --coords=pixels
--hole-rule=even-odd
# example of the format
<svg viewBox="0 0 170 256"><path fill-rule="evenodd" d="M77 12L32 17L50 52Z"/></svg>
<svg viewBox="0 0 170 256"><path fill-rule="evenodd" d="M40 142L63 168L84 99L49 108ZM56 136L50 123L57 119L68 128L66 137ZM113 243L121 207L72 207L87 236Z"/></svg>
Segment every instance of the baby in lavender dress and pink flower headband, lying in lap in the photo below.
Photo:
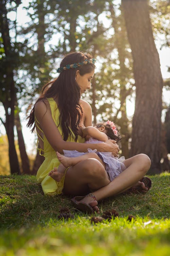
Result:
<svg viewBox="0 0 170 256"><path fill-rule="evenodd" d="M82 128L82 133L82 137L86 139L85 143L89 144L102 143L108 139L112 139L118 142L121 139L115 124L109 120L105 123L99 123L94 126ZM87 153L78 152L76 150L63 150L63 152L64 155L56 152L57 158L61 164L58 166L58 168L54 167L54 170L48 174L55 181L61 180L66 168L74 166L80 161L86 160L88 158L98 159L105 167L111 181L126 169L123 163L124 157L114 157L110 152L97 152L97 150L91 150L90 148L88 148Z"/></svg>

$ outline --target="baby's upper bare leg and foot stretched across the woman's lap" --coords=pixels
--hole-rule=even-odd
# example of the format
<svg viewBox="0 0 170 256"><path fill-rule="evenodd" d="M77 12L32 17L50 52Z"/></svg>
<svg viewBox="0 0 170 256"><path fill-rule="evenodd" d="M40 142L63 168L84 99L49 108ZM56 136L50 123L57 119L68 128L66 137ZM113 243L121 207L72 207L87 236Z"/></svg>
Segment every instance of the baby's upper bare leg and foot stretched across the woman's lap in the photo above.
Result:
<svg viewBox="0 0 170 256"><path fill-rule="evenodd" d="M63 156L61 155L60 153L56 152L57 154L57 158L58 160L64 165L64 167L69 167L69 166L74 166L76 165L77 163L83 161L83 160L86 160L86 159L89 159L89 158L95 158L97 160L99 160L102 165L104 166L105 168L105 165L103 163L103 161L100 159L100 157L96 154L96 153L86 153L82 156L77 156L77 157L66 157L66 156Z"/></svg>

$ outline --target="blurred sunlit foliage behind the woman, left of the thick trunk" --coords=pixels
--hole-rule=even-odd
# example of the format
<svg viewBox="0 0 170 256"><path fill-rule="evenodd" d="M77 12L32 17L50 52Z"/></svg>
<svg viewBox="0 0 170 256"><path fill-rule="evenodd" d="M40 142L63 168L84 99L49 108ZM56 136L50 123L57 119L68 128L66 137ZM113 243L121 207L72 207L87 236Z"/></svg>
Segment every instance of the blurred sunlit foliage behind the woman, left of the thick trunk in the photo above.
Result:
<svg viewBox="0 0 170 256"><path fill-rule="evenodd" d="M42 86L56 77L63 55L75 50L89 52L97 57L98 66L92 89L83 97L91 103L95 121L112 119L118 125L123 138L122 154L128 157L132 117L127 116L126 104L135 98L135 81L121 1L31 0L24 4L7 0L5 3L11 55L5 55L1 31L0 101L11 97L6 86L7 67L13 70L18 101L15 111L26 111ZM21 6L28 18L22 24L16 19ZM168 44L168 10L168 0L150 0L153 34L161 40L161 47Z"/></svg>

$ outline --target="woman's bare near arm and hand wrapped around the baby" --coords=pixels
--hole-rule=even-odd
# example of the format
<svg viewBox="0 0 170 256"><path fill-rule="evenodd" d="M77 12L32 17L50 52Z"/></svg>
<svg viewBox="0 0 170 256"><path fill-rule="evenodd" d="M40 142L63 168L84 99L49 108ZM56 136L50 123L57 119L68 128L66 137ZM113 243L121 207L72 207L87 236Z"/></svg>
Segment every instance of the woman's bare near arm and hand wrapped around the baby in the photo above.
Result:
<svg viewBox="0 0 170 256"><path fill-rule="evenodd" d="M47 105L46 105L47 104ZM67 142L64 141L51 115L51 109L48 101L46 104L39 101L35 104L35 115L40 123L40 128L43 130L50 145L55 151L63 154L63 150L77 150L79 152L87 152L89 147L86 143ZM106 143L90 144L92 150L97 149L100 152L112 152L115 156L118 153L118 145L114 144L113 140L108 140Z"/></svg>

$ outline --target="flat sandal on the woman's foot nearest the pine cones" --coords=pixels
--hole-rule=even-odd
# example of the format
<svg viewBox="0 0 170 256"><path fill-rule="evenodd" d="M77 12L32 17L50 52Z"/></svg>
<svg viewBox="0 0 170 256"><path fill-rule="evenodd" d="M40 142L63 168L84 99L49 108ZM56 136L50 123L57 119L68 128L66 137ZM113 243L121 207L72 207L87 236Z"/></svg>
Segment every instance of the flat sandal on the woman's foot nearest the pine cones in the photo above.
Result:
<svg viewBox="0 0 170 256"><path fill-rule="evenodd" d="M76 209L78 209L80 211L87 212L87 213L93 213L94 210L92 209L92 207L89 204L79 202L80 200L82 200L85 197L92 197L94 200L96 200L96 197L92 193L89 193L86 196L76 196L76 197L71 198L71 203L74 205L74 207Z"/></svg>

